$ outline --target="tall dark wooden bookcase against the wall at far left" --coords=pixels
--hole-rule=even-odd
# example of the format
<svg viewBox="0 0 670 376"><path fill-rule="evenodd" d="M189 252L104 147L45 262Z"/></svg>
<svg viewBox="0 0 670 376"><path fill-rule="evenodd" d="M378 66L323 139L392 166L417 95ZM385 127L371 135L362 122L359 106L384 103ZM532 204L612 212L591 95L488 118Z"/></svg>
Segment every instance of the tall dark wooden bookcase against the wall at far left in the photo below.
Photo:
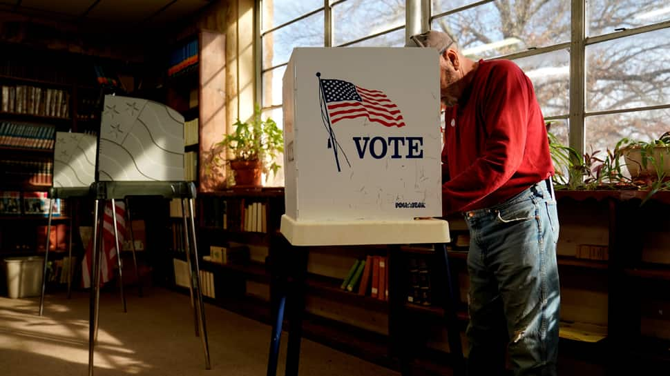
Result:
<svg viewBox="0 0 670 376"><path fill-rule="evenodd" d="M69 52L12 44L1 46L4 53L0 58L0 192L3 192L0 197L18 192L23 206L24 196L46 192L52 186L55 132L99 132L102 88L96 81L94 67L124 66L124 70L137 67ZM61 204L75 213L90 212L73 200L67 203L61 200ZM38 246L44 247L37 230L47 225L47 214L26 214L23 209L15 213L3 211L0 259L44 254L37 250ZM69 210L61 210L52 225L70 227L68 215ZM82 244L76 229L80 224L89 225L90 219L85 215L73 215L72 219L73 255L79 256ZM66 250L50 251L49 261L58 261L67 255Z"/></svg>

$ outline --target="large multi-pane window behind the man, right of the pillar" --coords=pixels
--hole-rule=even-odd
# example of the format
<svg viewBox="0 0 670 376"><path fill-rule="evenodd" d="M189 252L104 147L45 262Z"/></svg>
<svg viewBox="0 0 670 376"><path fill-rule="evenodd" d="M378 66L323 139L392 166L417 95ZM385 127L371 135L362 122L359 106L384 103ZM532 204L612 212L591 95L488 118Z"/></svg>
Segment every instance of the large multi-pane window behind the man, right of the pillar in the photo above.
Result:
<svg viewBox="0 0 670 376"><path fill-rule="evenodd" d="M584 152L606 152L622 137L658 137L670 123L670 4L584 0L582 20L573 18L579 14L573 3L580 5L579 0L433 0L430 25L457 37L472 58L513 59L533 81L551 132L563 144L569 132L584 135L583 145L571 145ZM571 52L571 29L582 22L586 36L577 42L583 54ZM585 79L571 76L579 74L571 66L580 59ZM571 103L578 99L571 95L580 92L584 110L577 108L571 117ZM568 118L579 121L568 128Z"/></svg>

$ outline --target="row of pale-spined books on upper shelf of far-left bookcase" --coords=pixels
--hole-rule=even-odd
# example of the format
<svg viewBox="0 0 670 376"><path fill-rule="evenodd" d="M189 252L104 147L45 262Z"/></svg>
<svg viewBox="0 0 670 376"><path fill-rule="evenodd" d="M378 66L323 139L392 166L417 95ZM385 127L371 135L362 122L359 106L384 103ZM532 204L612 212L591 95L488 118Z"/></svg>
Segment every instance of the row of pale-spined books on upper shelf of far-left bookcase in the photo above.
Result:
<svg viewBox="0 0 670 376"><path fill-rule="evenodd" d="M70 93L66 90L39 88L28 85L0 87L3 112L68 118Z"/></svg>

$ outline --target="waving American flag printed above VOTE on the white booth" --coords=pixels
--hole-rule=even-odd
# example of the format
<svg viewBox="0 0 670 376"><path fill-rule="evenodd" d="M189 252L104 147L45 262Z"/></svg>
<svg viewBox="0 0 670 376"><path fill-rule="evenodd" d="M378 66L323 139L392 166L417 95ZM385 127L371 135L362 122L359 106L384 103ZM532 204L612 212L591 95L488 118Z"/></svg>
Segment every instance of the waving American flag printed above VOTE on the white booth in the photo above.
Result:
<svg viewBox="0 0 670 376"><path fill-rule="evenodd" d="M321 85L331 124L367 117L387 127L405 126L400 109L381 90L361 88L341 79L322 79Z"/></svg>

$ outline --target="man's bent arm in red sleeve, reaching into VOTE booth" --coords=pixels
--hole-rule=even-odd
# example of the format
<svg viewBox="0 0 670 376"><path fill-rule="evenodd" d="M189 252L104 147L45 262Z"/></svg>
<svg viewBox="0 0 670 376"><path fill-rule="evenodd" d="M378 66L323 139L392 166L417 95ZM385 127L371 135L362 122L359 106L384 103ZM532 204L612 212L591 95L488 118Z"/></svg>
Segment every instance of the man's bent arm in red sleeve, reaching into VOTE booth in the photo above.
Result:
<svg viewBox="0 0 670 376"><path fill-rule="evenodd" d="M486 99L480 104L486 122L486 144L481 157L467 170L442 186L449 212L469 206L503 186L517 171L524 157L530 88L517 67L501 66L492 71Z"/></svg>

